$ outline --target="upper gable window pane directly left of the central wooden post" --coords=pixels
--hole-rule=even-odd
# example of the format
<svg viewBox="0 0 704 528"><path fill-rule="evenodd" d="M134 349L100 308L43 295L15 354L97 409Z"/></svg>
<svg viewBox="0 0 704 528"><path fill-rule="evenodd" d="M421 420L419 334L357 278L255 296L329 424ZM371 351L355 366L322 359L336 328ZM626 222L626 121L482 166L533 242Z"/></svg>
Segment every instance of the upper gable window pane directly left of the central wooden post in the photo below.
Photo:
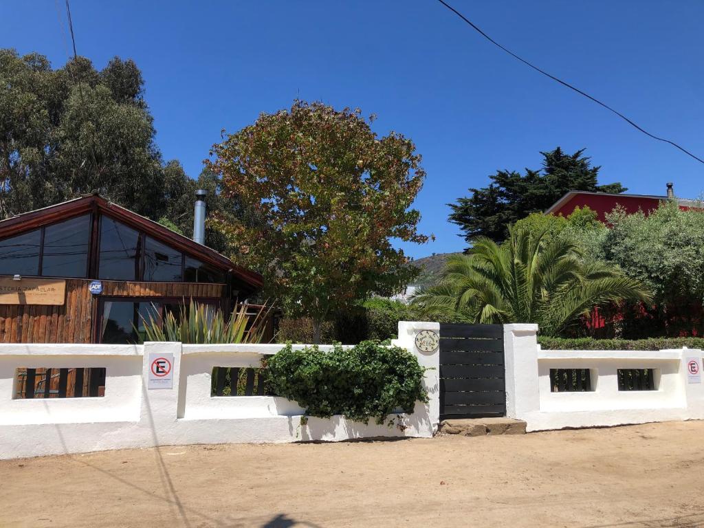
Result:
<svg viewBox="0 0 704 528"><path fill-rule="evenodd" d="M72 218L44 228L42 275L85 277L88 265L90 216Z"/></svg>

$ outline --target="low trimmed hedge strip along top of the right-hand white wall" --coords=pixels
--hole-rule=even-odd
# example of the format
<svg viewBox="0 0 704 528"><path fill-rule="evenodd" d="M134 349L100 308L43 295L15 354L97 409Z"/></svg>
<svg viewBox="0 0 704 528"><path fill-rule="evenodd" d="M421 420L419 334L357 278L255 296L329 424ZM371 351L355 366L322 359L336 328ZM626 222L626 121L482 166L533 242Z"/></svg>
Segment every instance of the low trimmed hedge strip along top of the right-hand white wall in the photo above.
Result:
<svg viewBox="0 0 704 528"><path fill-rule="evenodd" d="M686 346L704 348L701 337L651 337L648 339L593 339L538 336L544 350L669 350Z"/></svg>

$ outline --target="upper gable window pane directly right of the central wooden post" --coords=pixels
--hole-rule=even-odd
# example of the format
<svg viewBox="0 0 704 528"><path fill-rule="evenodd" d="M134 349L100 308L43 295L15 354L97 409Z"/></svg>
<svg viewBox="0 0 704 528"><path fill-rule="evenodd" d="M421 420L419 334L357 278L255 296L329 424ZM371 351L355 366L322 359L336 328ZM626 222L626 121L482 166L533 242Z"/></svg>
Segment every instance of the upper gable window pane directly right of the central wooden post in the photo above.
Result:
<svg viewBox="0 0 704 528"><path fill-rule="evenodd" d="M137 279L139 232L104 215L100 224L99 278Z"/></svg>

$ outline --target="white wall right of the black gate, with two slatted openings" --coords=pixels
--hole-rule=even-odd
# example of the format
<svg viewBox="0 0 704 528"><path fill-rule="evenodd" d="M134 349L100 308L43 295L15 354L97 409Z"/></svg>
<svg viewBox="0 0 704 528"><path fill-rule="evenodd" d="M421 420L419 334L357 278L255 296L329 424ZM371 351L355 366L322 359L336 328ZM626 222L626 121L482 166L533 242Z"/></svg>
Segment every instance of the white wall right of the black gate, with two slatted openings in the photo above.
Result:
<svg viewBox="0 0 704 528"><path fill-rule="evenodd" d="M527 422L528 431L564 427L704 419L704 384L690 382L687 363L702 351L541 350L537 325L504 325L508 417ZM551 392L550 370L590 369L592 391ZM619 391L618 369L655 371L654 391Z"/></svg>

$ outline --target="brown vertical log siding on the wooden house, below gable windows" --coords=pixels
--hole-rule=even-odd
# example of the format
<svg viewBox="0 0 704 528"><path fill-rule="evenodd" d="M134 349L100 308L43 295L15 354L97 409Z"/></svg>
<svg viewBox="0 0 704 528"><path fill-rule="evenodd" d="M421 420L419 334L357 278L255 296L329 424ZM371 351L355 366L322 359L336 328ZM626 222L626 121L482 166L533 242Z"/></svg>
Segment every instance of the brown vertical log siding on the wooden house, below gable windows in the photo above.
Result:
<svg viewBox="0 0 704 528"><path fill-rule="evenodd" d="M63 306L0 305L0 343L90 343L98 298L87 279L66 279ZM102 297L222 298L224 284L103 280Z"/></svg>

